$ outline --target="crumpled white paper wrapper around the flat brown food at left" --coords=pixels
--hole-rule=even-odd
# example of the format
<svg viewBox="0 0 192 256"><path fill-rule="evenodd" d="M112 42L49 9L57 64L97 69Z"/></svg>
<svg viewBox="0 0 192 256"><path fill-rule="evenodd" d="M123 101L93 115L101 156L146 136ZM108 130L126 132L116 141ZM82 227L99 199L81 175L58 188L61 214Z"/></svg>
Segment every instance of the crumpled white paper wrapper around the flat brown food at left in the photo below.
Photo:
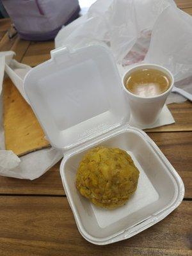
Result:
<svg viewBox="0 0 192 256"><path fill-rule="evenodd" d="M28 102L23 88L23 79L30 67L12 60L14 52L0 52L0 175L33 180L43 175L57 163L63 154L55 148L45 148L17 157L11 150L4 150L2 83L4 69L19 92Z"/></svg>

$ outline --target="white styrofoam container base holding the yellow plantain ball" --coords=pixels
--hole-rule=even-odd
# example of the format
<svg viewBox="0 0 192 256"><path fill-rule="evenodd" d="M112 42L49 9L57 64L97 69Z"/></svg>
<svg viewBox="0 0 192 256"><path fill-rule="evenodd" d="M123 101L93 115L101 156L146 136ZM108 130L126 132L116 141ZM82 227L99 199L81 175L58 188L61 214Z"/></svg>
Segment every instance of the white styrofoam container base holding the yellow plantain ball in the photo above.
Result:
<svg viewBox="0 0 192 256"><path fill-rule="evenodd" d="M127 204L114 210L93 205L75 186L83 155L100 145L126 150L140 171L136 192ZM94 244L109 244L134 236L166 217L184 196L183 182L161 150L147 134L132 127L70 152L63 158L60 172L79 232Z"/></svg>

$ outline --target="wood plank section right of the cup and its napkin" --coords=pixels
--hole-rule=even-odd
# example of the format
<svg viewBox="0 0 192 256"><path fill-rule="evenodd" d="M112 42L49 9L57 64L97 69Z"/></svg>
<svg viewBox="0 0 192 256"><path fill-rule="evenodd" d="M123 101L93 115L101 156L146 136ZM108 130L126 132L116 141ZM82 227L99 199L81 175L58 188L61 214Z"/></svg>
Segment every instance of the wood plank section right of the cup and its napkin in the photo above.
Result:
<svg viewBox="0 0 192 256"><path fill-rule="evenodd" d="M189 100L182 104L169 104L168 109L175 119L175 124L147 129L145 132L192 131L192 103Z"/></svg>

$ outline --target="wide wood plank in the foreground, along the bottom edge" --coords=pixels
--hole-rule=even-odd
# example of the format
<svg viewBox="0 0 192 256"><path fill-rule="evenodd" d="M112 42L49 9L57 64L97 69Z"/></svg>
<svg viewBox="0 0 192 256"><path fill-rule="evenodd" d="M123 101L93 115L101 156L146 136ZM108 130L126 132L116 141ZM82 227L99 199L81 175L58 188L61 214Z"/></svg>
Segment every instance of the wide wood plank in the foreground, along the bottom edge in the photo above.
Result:
<svg viewBox="0 0 192 256"><path fill-rule="evenodd" d="M137 236L97 246L78 232L67 198L1 196L0 255L191 255L191 206L184 201Z"/></svg>

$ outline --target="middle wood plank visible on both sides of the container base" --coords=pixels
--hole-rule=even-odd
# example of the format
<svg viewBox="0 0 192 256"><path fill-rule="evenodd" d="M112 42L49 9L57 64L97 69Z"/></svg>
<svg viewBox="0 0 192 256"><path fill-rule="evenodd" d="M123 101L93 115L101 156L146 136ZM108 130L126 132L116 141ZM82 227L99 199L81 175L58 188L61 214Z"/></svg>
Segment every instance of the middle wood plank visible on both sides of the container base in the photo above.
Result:
<svg viewBox="0 0 192 256"><path fill-rule="evenodd" d="M150 132L148 135L182 177L186 188L185 198L192 198L192 133ZM0 194L63 195L59 168L60 163L33 181L0 177Z"/></svg>

